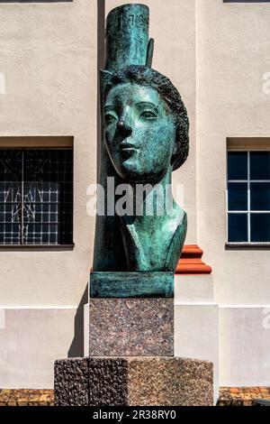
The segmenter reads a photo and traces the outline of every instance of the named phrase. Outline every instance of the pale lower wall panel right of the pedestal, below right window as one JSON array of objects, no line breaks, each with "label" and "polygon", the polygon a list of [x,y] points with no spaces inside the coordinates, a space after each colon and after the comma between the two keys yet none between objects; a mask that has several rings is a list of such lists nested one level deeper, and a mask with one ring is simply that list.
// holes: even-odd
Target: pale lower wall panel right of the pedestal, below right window
[{"label": "pale lower wall panel right of the pedestal, below right window", "polygon": [[270,386],[270,305],[220,308],[220,386]]}]

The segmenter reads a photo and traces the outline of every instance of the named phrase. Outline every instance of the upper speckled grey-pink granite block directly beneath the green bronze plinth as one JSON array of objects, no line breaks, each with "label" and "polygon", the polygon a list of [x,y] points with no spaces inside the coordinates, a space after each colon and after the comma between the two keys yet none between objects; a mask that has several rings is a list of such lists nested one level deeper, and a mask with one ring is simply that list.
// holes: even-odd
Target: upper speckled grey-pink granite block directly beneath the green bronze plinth
[{"label": "upper speckled grey-pink granite block directly beneath the green bronze plinth", "polygon": [[173,356],[174,299],[91,299],[90,356]]}]

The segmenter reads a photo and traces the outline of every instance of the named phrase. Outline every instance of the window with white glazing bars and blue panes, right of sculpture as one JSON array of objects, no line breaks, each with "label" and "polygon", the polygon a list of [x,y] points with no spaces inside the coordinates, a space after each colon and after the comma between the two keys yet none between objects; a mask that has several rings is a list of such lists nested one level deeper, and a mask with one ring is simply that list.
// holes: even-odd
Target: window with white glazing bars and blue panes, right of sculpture
[{"label": "window with white glazing bars and blue panes, right of sculpture", "polygon": [[228,242],[270,244],[270,152],[228,152]]}]

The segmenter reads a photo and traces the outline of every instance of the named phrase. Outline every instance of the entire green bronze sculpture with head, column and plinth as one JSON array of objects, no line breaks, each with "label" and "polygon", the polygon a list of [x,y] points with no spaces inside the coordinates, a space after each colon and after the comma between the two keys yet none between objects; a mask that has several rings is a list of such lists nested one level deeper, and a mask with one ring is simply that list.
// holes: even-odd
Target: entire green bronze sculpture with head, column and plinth
[{"label": "entire green bronze sculpture with head, column and plinth", "polygon": [[[106,41],[98,182],[106,198],[112,177],[118,193],[112,205],[116,213],[96,219],[91,295],[166,296],[173,292],[168,275],[175,272],[187,227],[171,178],[188,155],[188,117],[171,81],[151,69],[146,5],[113,9]],[[128,192],[119,189],[121,184],[130,186]]]}]

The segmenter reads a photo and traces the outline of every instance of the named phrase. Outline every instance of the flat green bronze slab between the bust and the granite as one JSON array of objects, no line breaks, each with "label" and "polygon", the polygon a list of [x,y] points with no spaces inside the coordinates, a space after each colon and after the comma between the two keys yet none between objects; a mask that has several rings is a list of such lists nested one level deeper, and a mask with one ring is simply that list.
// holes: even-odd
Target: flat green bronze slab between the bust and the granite
[{"label": "flat green bronze slab between the bust and the granite", "polygon": [[173,298],[174,272],[93,272],[92,298]]}]

